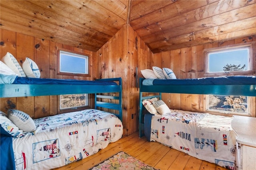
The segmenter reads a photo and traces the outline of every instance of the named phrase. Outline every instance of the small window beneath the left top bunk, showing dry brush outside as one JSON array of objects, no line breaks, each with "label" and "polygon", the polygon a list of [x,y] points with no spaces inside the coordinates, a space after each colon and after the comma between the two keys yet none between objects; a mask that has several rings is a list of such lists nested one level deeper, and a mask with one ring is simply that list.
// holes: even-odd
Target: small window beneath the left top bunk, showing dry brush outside
[{"label": "small window beneath the left top bunk, showing dry brush outside", "polygon": [[89,107],[89,94],[59,95],[59,113],[78,111]]}]

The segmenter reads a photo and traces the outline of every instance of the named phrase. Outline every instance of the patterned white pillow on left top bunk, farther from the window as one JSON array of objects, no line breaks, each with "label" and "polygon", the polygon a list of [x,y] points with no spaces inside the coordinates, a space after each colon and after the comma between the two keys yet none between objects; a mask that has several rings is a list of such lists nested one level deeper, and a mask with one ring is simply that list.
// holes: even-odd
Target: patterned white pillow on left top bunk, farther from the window
[{"label": "patterned white pillow on left top bunk, farther from the window", "polygon": [[1,61],[3,61],[10,69],[12,69],[12,71],[18,74],[18,76],[26,77],[17,59],[11,53],[7,52],[6,55],[2,57]]}]

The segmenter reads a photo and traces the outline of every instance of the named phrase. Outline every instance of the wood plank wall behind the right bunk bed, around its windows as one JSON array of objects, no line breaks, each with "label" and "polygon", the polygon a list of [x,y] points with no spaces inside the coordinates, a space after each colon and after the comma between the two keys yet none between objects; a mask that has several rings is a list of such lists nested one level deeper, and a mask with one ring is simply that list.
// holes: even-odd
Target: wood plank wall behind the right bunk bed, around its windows
[{"label": "wood plank wall behind the right bunk bed, around its windows", "polygon": [[[178,79],[201,78],[204,77],[204,49],[239,44],[244,42],[256,42],[256,35],[230,40],[226,42],[210,43],[206,45],[198,45],[194,47],[187,47],[161,53],[154,53],[153,65],[158,66],[160,68],[168,67],[172,69]],[[253,57],[254,61],[256,61],[255,45],[253,48]],[[253,75],[255,75],[255,73]],[[206,98],[204,95],[163,93],[162,98],[164,102],[168,105],[168,107],[171,109],[181,109],[186,111],[197,112],[206,111]],[[255,97],[252,97],[251,102],[253,107],[251,111],[252,115],[254,116],[256,110],[255,101]]]}]

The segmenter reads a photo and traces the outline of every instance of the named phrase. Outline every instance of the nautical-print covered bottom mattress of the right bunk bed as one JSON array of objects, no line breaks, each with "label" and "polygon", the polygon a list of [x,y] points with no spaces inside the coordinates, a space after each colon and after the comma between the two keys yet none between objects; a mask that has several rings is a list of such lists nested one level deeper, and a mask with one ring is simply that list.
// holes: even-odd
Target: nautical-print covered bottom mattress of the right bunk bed
[{"label": "nautical-print covered bottom mattress of the right bunk bed", "polygon": [[236,169],[236,134],[232,117],[170,110],[164,115],[146,114],[144,133],[157,141],[200,160]]}]

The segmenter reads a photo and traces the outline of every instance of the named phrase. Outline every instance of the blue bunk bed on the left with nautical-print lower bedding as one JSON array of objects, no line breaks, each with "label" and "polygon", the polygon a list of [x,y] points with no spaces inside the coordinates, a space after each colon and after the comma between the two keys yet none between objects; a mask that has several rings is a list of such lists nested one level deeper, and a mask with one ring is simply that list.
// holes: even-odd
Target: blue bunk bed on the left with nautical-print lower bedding
[{"label": "blue bunk bed on the left with nautical-print lower bedding", "polygon": [[[33,119],[36,130],[18,128],[15,136],[10,126],[1,123],[1,169],[57,168],[91,156],[122,137],[121,78],[12,78],[11,84],[0,84],[1,98],[90,93],[95,95],[95,108]],[[2,122],[8,117],[0,112],[0,119]],[[13,125],[9,120],[5,123]]]}]

